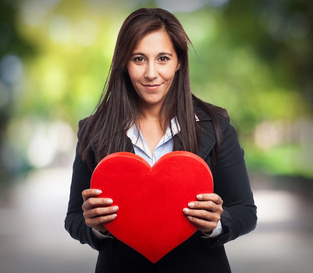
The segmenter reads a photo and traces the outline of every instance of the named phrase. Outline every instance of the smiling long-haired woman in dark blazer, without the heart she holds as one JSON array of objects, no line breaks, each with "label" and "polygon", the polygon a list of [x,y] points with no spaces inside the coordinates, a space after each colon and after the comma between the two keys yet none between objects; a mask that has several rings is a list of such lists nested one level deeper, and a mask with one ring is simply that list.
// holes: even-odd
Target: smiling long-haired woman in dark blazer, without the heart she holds
[{"label": "smiling long-haired woman in dark blazer, without the heart she holds", "polygon": [[[141,8],[131,13],[119,31],[99,103],[79,122],[65,228],[99,251],[96,272],[230,272],[223,244],[255,227],[243,151],[227,112],[191,94],[189,43],[168,11]],[[152,165],[173,150],[205,160],[214,193],[194,196],[181,208],[198,231],[151,263],[103,226],[118,217],[118,204],[109,206],[111,198],[98,198],[101,191],[89,188],[90,177],[112,152],[134,152]]]}]

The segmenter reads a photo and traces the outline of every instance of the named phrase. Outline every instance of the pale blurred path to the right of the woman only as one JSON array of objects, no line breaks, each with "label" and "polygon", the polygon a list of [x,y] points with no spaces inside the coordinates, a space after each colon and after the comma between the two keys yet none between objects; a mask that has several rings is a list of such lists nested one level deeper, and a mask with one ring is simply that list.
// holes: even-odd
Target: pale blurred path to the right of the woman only
[{"label": "pale blurred path to the right of the woman only", "polygon": [[254,190],[258,224],[225,244],[233,273],[311,273],[313,201],[286,190]]}]

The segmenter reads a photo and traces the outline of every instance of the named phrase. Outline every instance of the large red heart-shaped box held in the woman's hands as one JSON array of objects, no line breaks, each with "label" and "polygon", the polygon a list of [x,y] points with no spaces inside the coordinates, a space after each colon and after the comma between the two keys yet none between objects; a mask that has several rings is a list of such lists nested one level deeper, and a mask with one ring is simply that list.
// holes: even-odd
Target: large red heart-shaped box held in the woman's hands
[{"label": "large red heart-shaped box held in the woman's hands", "polygon": [[187,151],[173,151],[150,165],[130,152],[104,157],[91,177],[91,188],[118,205],[107,230],[151,262],[158,261],[198,228],[182,212],[196,194],[212,192],[205,161]]}]

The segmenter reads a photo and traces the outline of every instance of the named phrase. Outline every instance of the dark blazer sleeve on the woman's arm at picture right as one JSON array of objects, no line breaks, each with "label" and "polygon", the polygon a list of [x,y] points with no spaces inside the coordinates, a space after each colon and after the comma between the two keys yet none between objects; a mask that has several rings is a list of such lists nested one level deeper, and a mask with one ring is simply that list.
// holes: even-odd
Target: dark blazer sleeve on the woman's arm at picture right
[{"label": "dark blazer sleeve on the woman's arm at picture right", "polygon": [[256,206],[237,133],[229,121],[222,119],[222,141],[216,169],[214,192],[223,200],[223,233],[209,238],[209,246],[219,246],[250,232],[256,225]]}]

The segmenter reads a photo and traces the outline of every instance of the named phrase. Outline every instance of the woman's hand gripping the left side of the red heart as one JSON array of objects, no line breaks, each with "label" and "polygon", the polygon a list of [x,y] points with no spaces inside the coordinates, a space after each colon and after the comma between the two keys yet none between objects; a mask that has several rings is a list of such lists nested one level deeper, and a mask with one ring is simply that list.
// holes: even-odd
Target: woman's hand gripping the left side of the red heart
[{"label": "woman's hand gripping the left side of the red heart", "polygon": [[81,192],[83,204],[83,217],[86,225],[100,231],[106,232],[106,228],[102,223],[111,221],[116,217],[118,206],[110,206],[113,202],[111,198],[99,198],[97,195],[101,194],[100,189],[88,188]]}]

